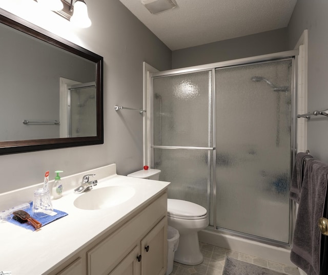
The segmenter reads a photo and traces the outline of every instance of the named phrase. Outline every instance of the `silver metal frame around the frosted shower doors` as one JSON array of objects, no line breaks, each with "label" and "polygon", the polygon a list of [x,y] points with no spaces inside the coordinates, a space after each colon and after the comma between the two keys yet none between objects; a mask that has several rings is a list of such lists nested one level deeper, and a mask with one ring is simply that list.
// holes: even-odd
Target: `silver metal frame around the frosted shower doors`
[{"label": "silver metal frame around the frosted shower doors", "polygon": [[[254,64],[264,64],[267,62],[272,62],[272,61],[278,61],[280,59],[292,59],[292,101],[294,104],[292,104],[292,121],[291,121],[291,126],[292,126],[292,131],[291,131],[291,161],[290,161],[290,167],[292,171],[292,167],[294,165],[294,160],[295,160],[295,155],[296,155],[296,60],[294,57],[299,55],[299,50],[292,50],[292,51],[285,51],[285,52],[279,52],[279,53],[273,53],[273,54],[267,54],[267,55],[260,55],[260,56],[255,56],[255,57],[247,57],[247,58],[241,58],[241,59],[235,59],[235,60],[229,60],[229,61],[222,61],[222,62],[215,62],[211,64],[206,64],[206,65],[200,65],[200,66],[194,66],[194,67],[188,67],[188,68],[181,68],[181,69],[173,69],[173,70],[168,70],[168,71],[162,71],[162,72],[156,72],[156,73],[150,73],[149,74],[149,93],[148,93],[148,100],[150,102],[149,104],[149,115],[153,114],[153,78],[157,77],[164,77],[164,76],[169,76],[169,75],[180,75],[180,74],[187,74],[187,73],[192,73],[192,72],[199,72],[199,71],[209,71],[212,72],[212,77],[209,80],[209,92],[211,94],[211,97],[209,99],[209,147],[193,147],[193,146],[158,146],[154,145],[154,133],[153,133],[153,115],[150,115],[150,120],[149,120],[149,131],[150,131],[150,142],[148,144],[144,144],[144,146],[147,146],[147,150],[149,150],[149,155],[150,155],[150,165],[154,165],[154,149],[189,149],[189,150],[208,150],[209,151],[209,159],[211,160],[208,164],[209,168],[209,175],[208,177],[208,209],[210,209],[210,221],[213,222],[213,226],[209,226],[208,229],[211,230],[219,230],[224,232],[224,234],[229,234],[229,235],[234,235],[234,236],[239,236],[245,239],[252,239],[261,243],[267,243],[267,244],[272,244],[276,245],[279,247],[289,247],[291,242],[292,242],[292,232],[293,232],[293,223],[295,219],[295,205],[290,202],[290,232],[289,232],[289,243],[284,243],[284,242],[279,242],[275,240],[268,240],[265,238],[257,237],[257,236],[250,236],[248,234],[243,234],[240,232],[235,232],[231,231],[228,229],[223,229],[223,228],[217,228],[216,225],[216,177],[215,177],[215,163],[216,163],[216,144],[215,144],[215,131],[211,133],[211,129],[215,129],[215,70],[216,69],[222,69],[222,68],[229,68],[229,67],[244,67],[248,65],[254,65]],[[296,63],[295,63],[296,62]],[[146,126],[145,126],[146,128]],[[210,146],[212,145],[212,146]],[[211,189],[213,190],[212,194],[212,204],[211,204]]]}]

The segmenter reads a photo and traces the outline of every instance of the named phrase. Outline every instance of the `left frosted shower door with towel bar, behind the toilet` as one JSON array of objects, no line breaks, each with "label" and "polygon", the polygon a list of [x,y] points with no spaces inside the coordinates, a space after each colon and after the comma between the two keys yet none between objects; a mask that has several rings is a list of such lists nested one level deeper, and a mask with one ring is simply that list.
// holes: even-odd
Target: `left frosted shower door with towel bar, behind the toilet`
[{"label": "left frosted shower door with towel bar, behind the toilet", "polygon": [[213,155],[212,74],[153,78],[153,166],[170,181],[168,196],[209,210]]}]

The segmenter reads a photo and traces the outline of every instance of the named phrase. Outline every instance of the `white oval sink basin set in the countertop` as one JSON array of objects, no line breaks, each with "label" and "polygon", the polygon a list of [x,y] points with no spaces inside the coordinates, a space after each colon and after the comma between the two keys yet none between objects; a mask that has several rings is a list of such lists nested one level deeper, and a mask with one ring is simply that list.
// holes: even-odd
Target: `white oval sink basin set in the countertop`
[{"label": "white oval sink basin set in the countertop", "polygon": [[106,209],[129,200],[134,194],[135,189],[129,186],[101,187],[79,196],[74,205],[84,210]]}]

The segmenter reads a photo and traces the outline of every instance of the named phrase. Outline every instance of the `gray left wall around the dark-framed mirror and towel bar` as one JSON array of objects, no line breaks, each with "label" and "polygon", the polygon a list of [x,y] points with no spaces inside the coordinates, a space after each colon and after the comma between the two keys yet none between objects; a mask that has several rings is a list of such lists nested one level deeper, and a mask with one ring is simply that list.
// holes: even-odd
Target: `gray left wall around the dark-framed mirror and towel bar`
[{"label": "gray left wall around the dark-framed mirror and towel bar", "polygon": [[118,0],[88,1],[88,10],[92,26],[72,39],[104,57],[105,143],[0,156],[0,193],[43,182],[47,170],[52,180],[58,169],[65,177],[116,163],[117,173],[126,175],[143,165],[142,115],[116,112],[114,105],[142,107],[142,62],[171,69],[171,50]]}]

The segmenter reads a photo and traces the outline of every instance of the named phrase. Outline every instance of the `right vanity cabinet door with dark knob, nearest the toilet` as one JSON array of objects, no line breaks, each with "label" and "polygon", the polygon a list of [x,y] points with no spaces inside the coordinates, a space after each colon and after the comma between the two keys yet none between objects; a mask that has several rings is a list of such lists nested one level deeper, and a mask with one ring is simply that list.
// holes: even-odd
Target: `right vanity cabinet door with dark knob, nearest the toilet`
[{"label": "right vanity cabinet door with dark knob, nearest the toilet", "polygon": [[141,274],[163,275],[167,270],[168,262],[168,240],[167,240],[168,218],[164,217],[149,231],[141,240]]}]

